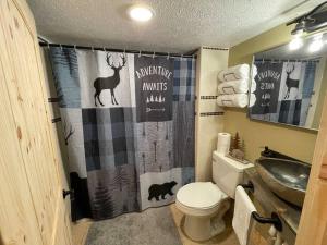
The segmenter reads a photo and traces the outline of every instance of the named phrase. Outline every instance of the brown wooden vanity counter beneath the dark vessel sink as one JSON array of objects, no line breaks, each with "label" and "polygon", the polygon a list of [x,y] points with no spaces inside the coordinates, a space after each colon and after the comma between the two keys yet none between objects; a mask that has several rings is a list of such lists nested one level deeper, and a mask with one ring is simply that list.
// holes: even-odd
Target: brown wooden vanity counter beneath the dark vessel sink
[{"label": "brown wooden vanity counter beneath the dark vessel sink", "polygon": [[265,213],[261,215],[269,217],[271,212],[278,213],[282,222],[281,237],[288,245],[293,245],[300,223],[301,208],[288,204],[276,196],[264,183],[255,168],[245,170],[244,179],[245,183],[251,181],[254,186],[254,191],[251,194],[265,211]]}]

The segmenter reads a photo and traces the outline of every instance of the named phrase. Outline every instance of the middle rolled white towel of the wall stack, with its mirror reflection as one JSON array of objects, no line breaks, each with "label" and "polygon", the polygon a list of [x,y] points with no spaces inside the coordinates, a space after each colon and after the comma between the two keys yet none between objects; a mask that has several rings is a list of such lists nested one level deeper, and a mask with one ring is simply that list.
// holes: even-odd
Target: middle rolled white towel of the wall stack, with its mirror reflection
[{"label": "middle rolled white towel of the wall stack, with its mirror reflection", "polygon": [[[256,90],[256,82],[253,79],[251,83],[251,93]],[[218,85],[218,94],[232,95],[245,94],[249,91],[249,79],[235,79],[222,82]]]}]

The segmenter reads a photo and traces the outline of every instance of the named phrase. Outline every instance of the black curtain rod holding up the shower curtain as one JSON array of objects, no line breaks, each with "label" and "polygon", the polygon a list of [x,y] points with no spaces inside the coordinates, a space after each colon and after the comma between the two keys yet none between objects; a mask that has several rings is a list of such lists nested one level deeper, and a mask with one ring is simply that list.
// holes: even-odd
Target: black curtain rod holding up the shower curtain
[{"label": "black curtain rod holding up the shower curtain", "polygon": [[113,49],[113,48],[99,48],[99,47],[89,47],[89,46],[80,46],[80,45],[61,45],[61,44],[52,44],[52,42],[38,42],[40,47],[61,47],[61,48],[74,48],[74,49],[83,49],[83,50],[101,50],[101,51],[110,51],[110,52],[126,52],[134,54],[148,54],[156,57],[181,57],[181,58],[197,58],[197,54],[183,54],[183,53],[169,53],[169,52],[150,52],[143,50],[131,50],[131,49]]}]

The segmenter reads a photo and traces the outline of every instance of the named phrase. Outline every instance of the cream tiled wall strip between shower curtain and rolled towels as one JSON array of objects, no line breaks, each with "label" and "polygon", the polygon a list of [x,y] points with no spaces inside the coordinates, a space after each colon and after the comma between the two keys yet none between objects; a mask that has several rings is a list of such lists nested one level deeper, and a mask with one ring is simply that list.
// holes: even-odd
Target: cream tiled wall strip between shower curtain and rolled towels
[{"label": "cream tiled wall strip between shower curtain and rolled towels", "polygon": [[227,68],[228,50],[203,47],[196,63],[196,117],[195,117],[195,179],[211,181],[211,156],[217,146],[217,135],[223,130],[223,115],[202,117],[203,112],[223,112],[216,99],[218,72]]}]

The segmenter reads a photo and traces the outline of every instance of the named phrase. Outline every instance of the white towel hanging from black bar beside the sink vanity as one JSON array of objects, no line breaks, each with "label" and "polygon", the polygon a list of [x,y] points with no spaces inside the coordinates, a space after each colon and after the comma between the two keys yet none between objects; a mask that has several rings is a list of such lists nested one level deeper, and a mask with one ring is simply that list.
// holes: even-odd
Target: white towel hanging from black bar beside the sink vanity
[{"label": "white towel hanging from black bar beside the sink vanity", "polygon": [[242,186],[235,191],[235,206],[232,226],[241,245],[247,244],[249,231],[251,229],[251,216],[256,211],[253,203]]}]

